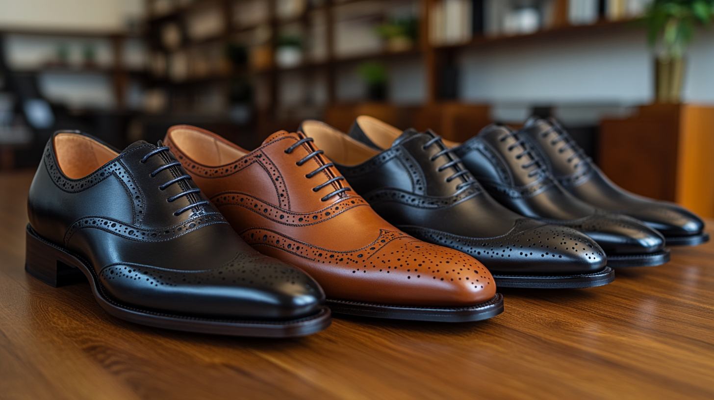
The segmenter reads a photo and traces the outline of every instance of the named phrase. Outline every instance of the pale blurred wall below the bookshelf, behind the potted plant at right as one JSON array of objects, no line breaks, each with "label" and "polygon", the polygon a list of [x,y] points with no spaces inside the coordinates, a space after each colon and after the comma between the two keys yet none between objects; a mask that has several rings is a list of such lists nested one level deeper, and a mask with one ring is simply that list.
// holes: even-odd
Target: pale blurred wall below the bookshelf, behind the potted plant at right
[{"label": "pale blurred wall below the bookshelf, behind the potted plant at right", "polygon": [[[504,41],[463,51],[459,63],[461,99],[494,104],[494,117],[507,121],[521,120],[535,105],[608,113],[654,97],[653,61],[642,29]],[[683,98],[714,104],[713,31],[697,32]]]}]

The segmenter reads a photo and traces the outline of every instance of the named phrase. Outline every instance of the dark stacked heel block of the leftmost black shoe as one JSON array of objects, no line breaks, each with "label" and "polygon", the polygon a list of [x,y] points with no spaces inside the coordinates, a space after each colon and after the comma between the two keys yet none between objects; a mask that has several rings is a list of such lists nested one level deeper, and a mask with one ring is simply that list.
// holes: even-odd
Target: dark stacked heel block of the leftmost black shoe
[{"label": "dark stacked heel block of the leftmost black shoe", "polygon": [[72,265],[74,256],[46,244],[32,228],[26,229],[25,271],[44,283],[60,287],[86,281],[81,269]]}]

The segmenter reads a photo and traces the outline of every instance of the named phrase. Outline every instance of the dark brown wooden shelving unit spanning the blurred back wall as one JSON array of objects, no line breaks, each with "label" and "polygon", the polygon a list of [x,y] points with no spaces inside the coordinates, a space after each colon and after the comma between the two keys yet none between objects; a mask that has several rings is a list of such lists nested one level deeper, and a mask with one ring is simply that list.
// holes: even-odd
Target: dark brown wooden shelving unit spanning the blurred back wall
[{"label": "dark brown wooden shelving unit spanning the blurred back wall", "polygon": [[[151,1],[151,0],[147,0]],[[190,13],[193,10],[201,9],[203,6],[208,4],[217,4],[226,12],[225,26],[226,29],[220,34],[211,38],[202,39],[200,41],[190,41],[183,39],[181,49],[188,49],[195,46],[202,46],[204,44],[216,44],[223,43],[228,44],[237,34],[245,33],[254,29],[254,27],[238,27],[234,26],[232,21],[233,5],[236,1],[241,0],[196,0],[188,6],[183,6],[179,9],[171,11],[169,14],[150,17],[149,19],[149,41],[151,43],[154,51],[165,51],[161,49],[161,44],[157,41],[158,32],[161,29],[161,25],[166,24],[169,21],[178,22],[178,24],[183,24],[186,18],[186,13]],[[256,81],[258,79],[266,79],[268,89],[268,101],[261,107],[256,107],[256,117],[258,125],[256,130],[259,134],[264,135],[266,132],[273,129],[279,129],[281,127],[291,128],[296,121],[281,121],[276,110],[280,108],[278,99],[278,77],[280,74],[286,72],[305,72],[310,73],[313,70],[319,69],[326,74],[328,82],[328,104],[336,105],[338,99],[336,98],[336,69],[338,66],[347,63],[357,63],[360,61],[367,60],[388,60],[401,56],[418,56],[421,58],[421,62],[425,66],[425,76],[426,81],[426,104],[436,105],[443,101],[451,102],[453,99],[443,98],[441,96],[441,76],[443,68],[446,64],[451,62],[459,51],[465,49],[471,49],[479,46],[492,46],[492,45],[503,45],[516,43],[518,41],[547,41],[553,40],[558,37],[563,36],[573,36],[580,34],[594,34],[598,32],[612,31],[614,29],[625,29],[626,22],[624,21],[598,21],[595,24],[583,25],[583,26],[571,26],[568,24],[568,0],[555,0],[555,16],[553,18],[553,24],[550,29],[537,31],[532,34],[521,34],[513,36],[475,36],[470,41],[458,44],[458,45],[448,45],[448,46],[434,46],[429,40],[429,35],[427,27],[430,26],[430,10],[432,6],[436,4],[439,0],[415,0],[419,3],[419,37],[416,44],[412,49],[407,51],[379,51],[373,54],[363,54],[359,56],[350,56],[346,58],[340,58],[334,54],[333,37],[335,36],[335,14],[336,8],[344,6],[346,4],[353,4],[365,0],[349,0],[349,1],[333,1],[324,0],[320,6],[311,7],[310,1],[308,1],[308,6],[306,10],[299,16],[288,21],[280,20],[276,17],[276,0],[266,0],[269,2],[270,18],[266,23],[271,29],[271,54],[275,53],[277,33],[280,31],[281,26],[291,23],[303,24],[303,26],[308,26],[310,24],[310,15],[314,11],[325,11],[327,16],[327,55],[322,61],[304,61],[299,66],[293,66],[291,68],[279,68],[276,66],[274,60],[271,60],[269,66],[263,69],[250,69],[248,67],[242,67],[238,70],[233,71],[231,74],[224,74],[221,76],[209,76],[202,77],[200,79],[186,79],[182,82],[174,82],[169,79],[155,79],[154,83],[157,85],[166,86],[186,86],[190,84],[202,84],[208,81],[229,81],[231,79],[248,79],[250,81]],[[149,3],[147,3],[149,4]],[[306,58],[306,57],[305,57]],[[433,113],[432,113],[433,114]]]}]

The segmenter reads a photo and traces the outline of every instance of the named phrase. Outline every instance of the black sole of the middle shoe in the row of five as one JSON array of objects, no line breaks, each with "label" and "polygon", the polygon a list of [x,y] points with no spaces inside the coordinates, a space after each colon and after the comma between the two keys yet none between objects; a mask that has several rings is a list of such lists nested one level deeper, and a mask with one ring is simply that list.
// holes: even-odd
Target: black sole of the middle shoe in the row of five
[{"label": "black sole of the middle shoe in the row of five", "polygon": [[583,289],[603,286],[615,280],[615,271],[609,266],[590,274],[553,276],[491,274],[498,287],[527,289]]}]

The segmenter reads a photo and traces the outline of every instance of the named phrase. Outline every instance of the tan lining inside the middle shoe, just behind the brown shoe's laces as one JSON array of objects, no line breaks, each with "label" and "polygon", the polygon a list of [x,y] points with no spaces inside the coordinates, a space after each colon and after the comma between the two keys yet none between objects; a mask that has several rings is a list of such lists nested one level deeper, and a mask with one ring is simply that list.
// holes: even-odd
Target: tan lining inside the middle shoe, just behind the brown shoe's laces
[{"label": "tan lining inside the middle shoe, just behind the brown shoe's laces", "polygon": [[313,138],[316,146],[325,151],[327,158],[337,164],[362,164],[380,153],[323,122],[303,121],[302,126],[303,134]]}]

